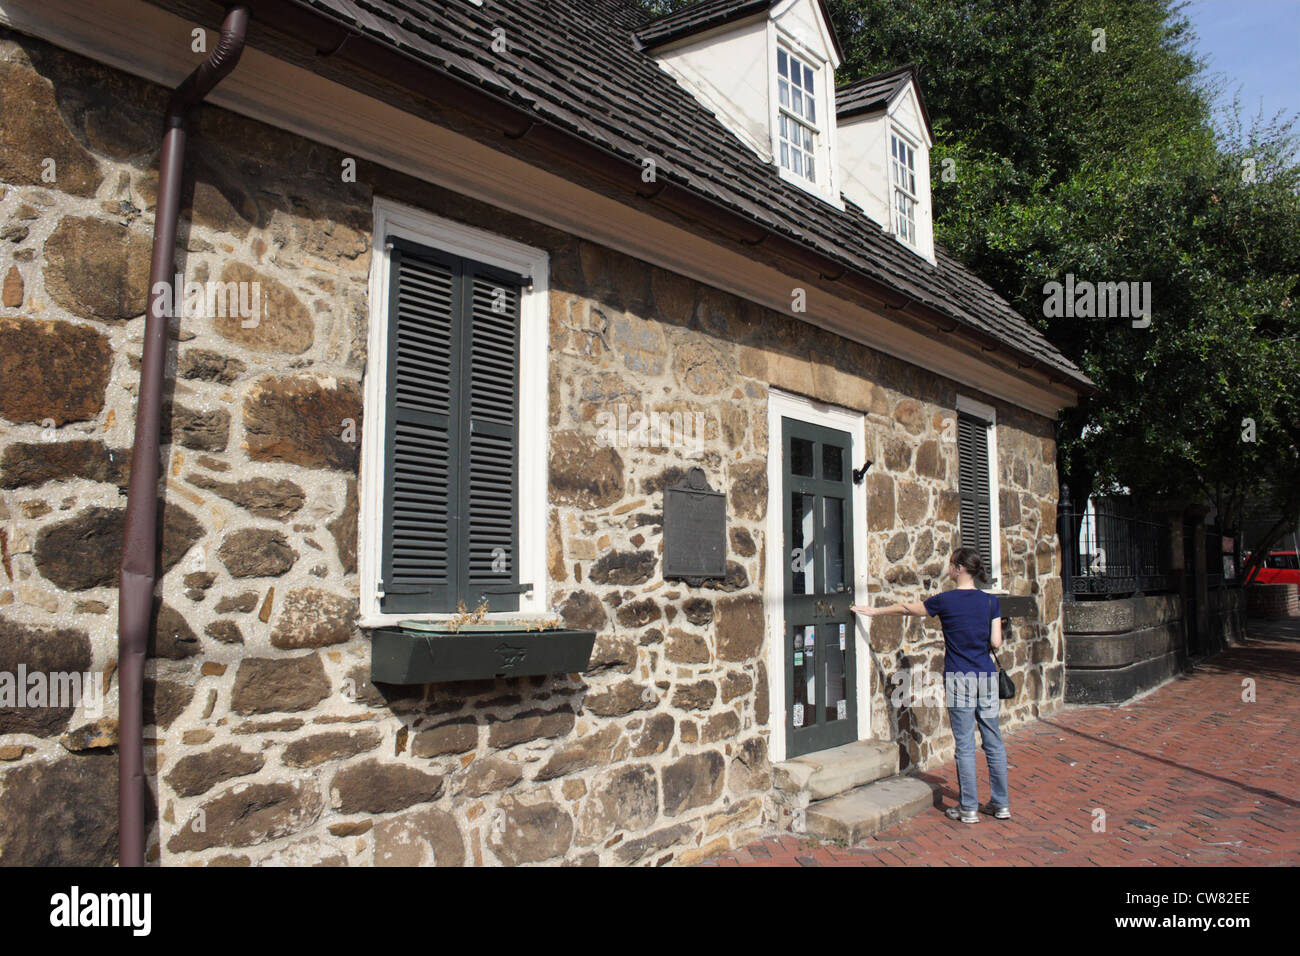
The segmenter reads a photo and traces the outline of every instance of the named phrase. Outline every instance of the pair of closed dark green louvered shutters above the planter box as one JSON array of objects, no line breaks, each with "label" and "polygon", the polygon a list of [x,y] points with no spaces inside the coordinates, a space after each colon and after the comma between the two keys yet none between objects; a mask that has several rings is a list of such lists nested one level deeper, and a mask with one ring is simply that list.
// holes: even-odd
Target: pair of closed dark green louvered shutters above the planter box
[{"label": "pair of closed dark green louvered shutters above the planter box", "polygon": [[385,613],[519,609],[519,319],[526,276],[391,239]]}]

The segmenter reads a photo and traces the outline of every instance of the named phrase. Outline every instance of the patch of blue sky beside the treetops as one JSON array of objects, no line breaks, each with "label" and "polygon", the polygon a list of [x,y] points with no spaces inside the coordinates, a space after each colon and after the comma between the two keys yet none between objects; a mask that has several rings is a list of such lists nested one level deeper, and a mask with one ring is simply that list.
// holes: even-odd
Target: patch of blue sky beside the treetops
[{"label": "patch of blue sky beside the treetops", "polygon": [[1208,70],[1226,81],[1221,100],[1240,92],[1247,126],[1260,111],[1300,114],[1300,0],[1192,0],[1183,10]]}]

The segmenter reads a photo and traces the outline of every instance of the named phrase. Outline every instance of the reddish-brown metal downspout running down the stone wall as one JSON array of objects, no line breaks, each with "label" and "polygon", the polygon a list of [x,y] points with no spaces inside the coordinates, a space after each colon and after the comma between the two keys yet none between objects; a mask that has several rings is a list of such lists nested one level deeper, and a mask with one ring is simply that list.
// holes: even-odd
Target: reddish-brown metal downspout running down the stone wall
[{"label": "reddish-brown metal downspout running down the stone wall", "polygon": [[153,258],[150,307],[144,316],[144,355],[135,406],[135,445],[126,492],[122,568],[117,602],[118,650],[118,865],[144,865],[144,659],[153,618],[159,550],[159,442],[162,424],[162,369],[166,358],[168,303],[172,297],[181,178],[190,111],[239,62],[248,8],[231,7],[212,55],[173,91],[164,120],[153,209]]}]

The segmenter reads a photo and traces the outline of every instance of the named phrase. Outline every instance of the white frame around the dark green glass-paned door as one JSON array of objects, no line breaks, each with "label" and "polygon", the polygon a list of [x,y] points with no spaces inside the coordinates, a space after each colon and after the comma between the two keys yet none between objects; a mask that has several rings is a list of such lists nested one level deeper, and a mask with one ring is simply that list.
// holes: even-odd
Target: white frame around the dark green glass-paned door
[{"label": "white frame around the dark green glass-paned door", "polygon": [[[785,555],[781,516],[781,419],[792,418],[815,425],[848,432],[853,441],[850,462],[866,462],[867,416],[863,412],[818,402],[812,398],[770,388],[767,392],[767,574],[764,581],[764,624],[767,627],[767,693],[772,732],[768,753],[774,762],[785,760]],[[853,466],[859,467],[859,466]],[[853,485],[853,602],[867,602],[867,485]],[[858,706],[858,740],[871,736],[871,654],[867,653],[864,622],[854,615],[853,640],[854,693]]]}]

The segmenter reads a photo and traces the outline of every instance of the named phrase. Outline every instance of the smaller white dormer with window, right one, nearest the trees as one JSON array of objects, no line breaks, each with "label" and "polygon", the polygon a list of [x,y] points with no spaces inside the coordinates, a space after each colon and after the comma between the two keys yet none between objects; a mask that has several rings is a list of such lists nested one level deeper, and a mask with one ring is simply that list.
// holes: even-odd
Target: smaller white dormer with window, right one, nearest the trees
[{"label": "smaller white dormer with window, right one, nearest the trees", "polygon": [[841,109],[837,127],[845,198],[861,206],[900,245],[933,264],[930,150],[935,140],[911,74],[904,74],[876,108],[849,114]]}]

